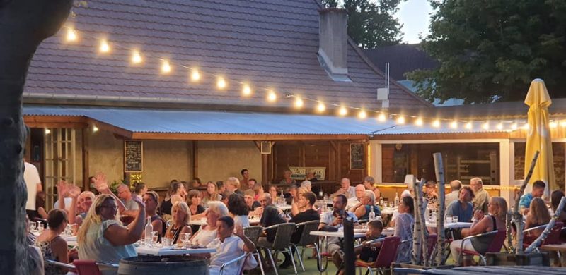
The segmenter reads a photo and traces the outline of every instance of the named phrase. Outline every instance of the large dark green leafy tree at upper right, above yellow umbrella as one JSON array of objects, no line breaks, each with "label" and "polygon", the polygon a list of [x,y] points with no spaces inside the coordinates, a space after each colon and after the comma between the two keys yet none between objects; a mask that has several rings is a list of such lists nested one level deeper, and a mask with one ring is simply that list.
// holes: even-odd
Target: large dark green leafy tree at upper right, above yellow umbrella
[{"label": "large dark green leafy tree at upper right, above yellow umbrella", "polygon": [[422,48],[438,68],[408,73],[432,101],[523,100],[533,78],[566,96],[566,1],[431,1],[436,13]]}]

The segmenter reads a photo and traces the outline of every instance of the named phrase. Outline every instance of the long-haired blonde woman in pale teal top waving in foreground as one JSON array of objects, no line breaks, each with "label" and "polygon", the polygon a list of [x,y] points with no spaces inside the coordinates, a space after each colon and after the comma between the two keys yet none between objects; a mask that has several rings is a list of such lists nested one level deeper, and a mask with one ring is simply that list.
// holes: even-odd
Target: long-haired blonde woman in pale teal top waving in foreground
[{"label": "long-haired blonde woman in pale teal top waving in foreground", "polygon": [[[117,216],[117,204],[112,195],[98,195],[79,228],[79,259],[119,264],[120,259],[137,255],[133,243],[141,238],[144,230],[145,204],[133,197],[139,207],[134,221],[122,226]],[[112,268],[100,267],[103,274],[115,274]]]}]

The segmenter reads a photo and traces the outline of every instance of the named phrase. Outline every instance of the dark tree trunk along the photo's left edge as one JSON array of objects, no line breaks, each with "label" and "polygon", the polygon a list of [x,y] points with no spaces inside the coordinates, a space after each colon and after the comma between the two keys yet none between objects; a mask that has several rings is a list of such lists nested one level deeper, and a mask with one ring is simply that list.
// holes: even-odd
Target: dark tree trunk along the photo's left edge
[{"label": "dark tree trunk along the photo's left edge", "polygon": [[0,274],[29,274],[25,240],[22,93],[31,58],[62,26],[72,0],[0,0]]}]

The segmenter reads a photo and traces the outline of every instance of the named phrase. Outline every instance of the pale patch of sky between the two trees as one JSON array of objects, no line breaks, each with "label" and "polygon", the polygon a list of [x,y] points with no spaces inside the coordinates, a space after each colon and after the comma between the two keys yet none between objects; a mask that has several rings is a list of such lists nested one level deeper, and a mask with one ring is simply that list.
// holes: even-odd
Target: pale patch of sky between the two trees
[{"label": "pale patch of sky between the two trees", "polygon": [[427,35],[429,32],[429,20],[432,7],[428,0],[401,1],[396,16],[399,23],[403,24],[403,42],[409,44],[419,43],[419,35]]}]

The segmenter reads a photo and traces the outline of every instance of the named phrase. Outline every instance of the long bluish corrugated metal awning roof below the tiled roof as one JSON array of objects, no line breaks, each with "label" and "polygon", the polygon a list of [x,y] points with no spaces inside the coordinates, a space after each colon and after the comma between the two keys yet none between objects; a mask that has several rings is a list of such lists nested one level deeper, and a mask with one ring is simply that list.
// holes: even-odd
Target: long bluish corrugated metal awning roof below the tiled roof
[{"label": "long bluish corrugated metal awning roof below the tiled roof", "polygon": [[86,116],[137,133],[369,135],[395,124],[372,119],[255,112],[25,106],[27,116]]}]

